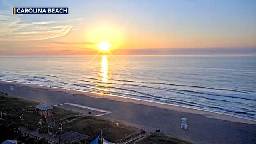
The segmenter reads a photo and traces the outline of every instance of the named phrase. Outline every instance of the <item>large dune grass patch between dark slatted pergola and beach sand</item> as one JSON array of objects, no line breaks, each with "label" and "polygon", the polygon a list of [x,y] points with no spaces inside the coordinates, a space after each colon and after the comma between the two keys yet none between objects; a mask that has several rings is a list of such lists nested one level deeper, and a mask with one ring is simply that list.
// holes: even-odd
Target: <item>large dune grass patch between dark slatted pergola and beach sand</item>
[{"label": "large dune grass patch between dark slatted pergola and beach sand", "polygon": [[[58,131],[58,128],[59,125],[54,126],[54,131]],[[76,118],[73,121],[62,124],[62,128],[64,132],[71,130],[89,135],[88,141],[94,140],[102,130],[104,138],[110,142],[117,142],[130,134],[140,131],[136,127],[96,116]]]}]

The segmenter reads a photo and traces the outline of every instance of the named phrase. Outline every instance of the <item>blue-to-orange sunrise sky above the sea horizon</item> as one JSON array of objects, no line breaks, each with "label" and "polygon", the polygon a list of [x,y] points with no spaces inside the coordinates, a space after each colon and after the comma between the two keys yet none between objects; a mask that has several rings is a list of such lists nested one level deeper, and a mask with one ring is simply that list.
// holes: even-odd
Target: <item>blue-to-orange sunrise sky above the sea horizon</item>
[{"label": "blue-to-orange sunrise sky above the sea horizon", "polygon": [[[69,7],[14,15],[12,7]],[[0,55],[256,54],[256,0],[0,0]]]}]

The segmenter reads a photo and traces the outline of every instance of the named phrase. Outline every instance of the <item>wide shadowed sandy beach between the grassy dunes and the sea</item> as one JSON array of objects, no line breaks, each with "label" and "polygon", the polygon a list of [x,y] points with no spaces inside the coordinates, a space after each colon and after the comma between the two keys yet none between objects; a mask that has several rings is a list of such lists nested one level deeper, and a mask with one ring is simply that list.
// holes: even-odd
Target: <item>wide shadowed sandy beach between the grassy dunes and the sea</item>
[{"label": "wide shadowed sandy beach between the grassy dunes and the sea", "polygon": [[[9,91],[10,86],[14,86],[14,92]],[[147,132],[161,129],[161,132],[166,134],[200,144],[256,143],[256,121],[215,112],[133,98],[127,99],[121,96],[32,84],[19,83],[17,85],[14,82],[4,81],[0,81],[0,92],[38,102],[49,102],[53,105],[73,103],[111,111],[112,113],[102,115],[102,117],[131,124]],[[181,118],[188,118],[187,130],[180,128]]]}]

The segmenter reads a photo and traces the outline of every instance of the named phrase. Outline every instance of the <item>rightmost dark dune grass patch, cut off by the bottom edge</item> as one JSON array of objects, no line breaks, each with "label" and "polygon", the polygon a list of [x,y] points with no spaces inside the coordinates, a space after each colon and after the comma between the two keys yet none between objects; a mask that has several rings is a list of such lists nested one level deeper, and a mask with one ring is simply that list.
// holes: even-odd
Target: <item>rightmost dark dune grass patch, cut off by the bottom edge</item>
[{"label": "rightmost dark dune grass patch, cut off by the bottom edge", "polygon": [[136,144],[196,144],[188,140],[169,136],[163,133],[152,133],[136,142]]}]

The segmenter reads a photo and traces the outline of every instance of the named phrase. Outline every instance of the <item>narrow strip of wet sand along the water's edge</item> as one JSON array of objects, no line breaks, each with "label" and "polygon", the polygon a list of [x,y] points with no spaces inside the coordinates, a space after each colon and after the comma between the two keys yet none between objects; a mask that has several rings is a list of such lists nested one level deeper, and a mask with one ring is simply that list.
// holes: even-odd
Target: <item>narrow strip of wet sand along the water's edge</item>
[{"label": "narrow strip of wet sand along the water's edge", "polygon": [[[114,100],[114,101],[119,101],[119,102],[130,102],[134,104],[142,104],[142,105],[147,105],[147,106],[156,106],[158,108],[162,109],[167,109],[167,110],[174,110],[177,112],[186,112],[186,113],[191,113],[191,114],[199,114],[202,116],[205,116],[207,118],[214,118],[218,120],[226,120],[230,122],[239,122],[239,123],[245,123],[245,124],[254,124],[256,125],[256,120],[249,119],[249,118],[244,118],[244,117],[239,117],[239,116],[233,116],[231,114],[223,114],[220,112],[212,112],[209,110],[201,110],[197,108],[190,108],[186,106],[179,106],[175,104],[168,104],[168,103],[163,103],[163,102],[154,102],[150,100],[142,100],[138,98],[129,98],[127,99],[124,96],[117,96],[113,94],[104,94],[104,93],[96,93],[96,92],[88,92],[84,90],[77,90],[77,89],[72,89],[69,90],[68,88],[61,88],[59,89],[58,87],[52,86],[44,86],[44,85],[39,85],[39,84],[28,84],[28,83],[21,83],[21,82],[13,82],[13,81],[8,81],[8,80],[0,80],[0,83],[2,84],[13,84],[14,86],[27,86],[30,88],[40,88],[40,89],[45,89],[48,91],[58,91],[58,92],[65,92],[68,94],[80,94],[80,95],[85,95],[89,97],[94,97],[94,98],[105,98],[109,100]],[[18,96],[19,97],[19,96]]]}]

